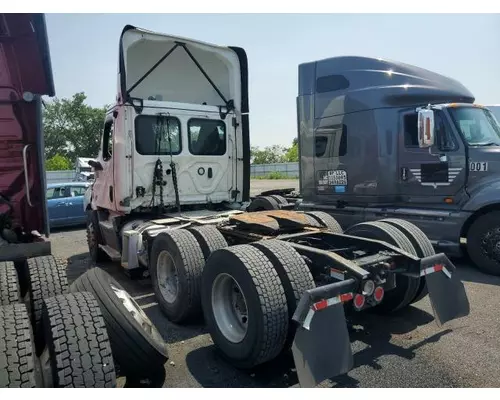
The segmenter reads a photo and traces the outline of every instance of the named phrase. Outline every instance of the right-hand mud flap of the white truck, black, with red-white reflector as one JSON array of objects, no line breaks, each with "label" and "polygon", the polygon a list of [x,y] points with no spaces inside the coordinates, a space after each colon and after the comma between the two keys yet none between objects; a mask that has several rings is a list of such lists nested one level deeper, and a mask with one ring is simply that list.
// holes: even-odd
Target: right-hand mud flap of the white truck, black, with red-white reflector
[{"label": "right-hand mud flap of the white truck, black, with red-white reflector", "polygon": [[439,326],[469,315],[465,287],[455,273],[456,267],[444,254],[421,260],[420,275],[425,276],[434,317]]}]

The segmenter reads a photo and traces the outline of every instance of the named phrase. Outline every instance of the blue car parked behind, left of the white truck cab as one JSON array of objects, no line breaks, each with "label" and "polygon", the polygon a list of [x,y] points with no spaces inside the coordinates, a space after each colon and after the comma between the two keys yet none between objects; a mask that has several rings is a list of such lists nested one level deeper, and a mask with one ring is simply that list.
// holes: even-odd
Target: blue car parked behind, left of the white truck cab
[{"label": "blue car parked behind, left of the white truck cab", "polygon": [[88,182],[50,183],[47,185],[47,207],[51,228],[83,225],[86,214],[83,208]]}]

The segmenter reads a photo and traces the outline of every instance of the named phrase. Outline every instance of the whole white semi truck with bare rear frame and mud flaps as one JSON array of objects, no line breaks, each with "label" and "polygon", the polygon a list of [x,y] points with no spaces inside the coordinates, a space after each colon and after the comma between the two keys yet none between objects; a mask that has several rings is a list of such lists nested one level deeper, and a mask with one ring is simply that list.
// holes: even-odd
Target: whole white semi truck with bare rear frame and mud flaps
[{"label": "whole white semi truck with bare rear frame and mud flaps", "polygon": [[119,60],[89,162],[89,251],[149,276],[170,321],[203,314],[240,368],[291,350],[300,384],[314,386],[352,367],[344,307],[392,312],[429,294],[438,323],[468,314],[453,264],[413,225],[343,233],[325,213],[245,212],[244,50],[126,27]]}]

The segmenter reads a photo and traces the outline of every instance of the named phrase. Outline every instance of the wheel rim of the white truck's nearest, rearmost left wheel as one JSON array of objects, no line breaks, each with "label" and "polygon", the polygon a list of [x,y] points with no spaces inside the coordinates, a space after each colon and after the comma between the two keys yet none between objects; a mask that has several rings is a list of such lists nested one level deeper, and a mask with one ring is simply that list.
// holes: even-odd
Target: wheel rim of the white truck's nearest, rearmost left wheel
[{"label": "wheel rim of the white truck's nearest, rearmost left wheel", "polygon": [[248,307],[240,286],[229,274],[218,275],[212,284],[212,310],[224,337],[240,343],[248,330]]}]

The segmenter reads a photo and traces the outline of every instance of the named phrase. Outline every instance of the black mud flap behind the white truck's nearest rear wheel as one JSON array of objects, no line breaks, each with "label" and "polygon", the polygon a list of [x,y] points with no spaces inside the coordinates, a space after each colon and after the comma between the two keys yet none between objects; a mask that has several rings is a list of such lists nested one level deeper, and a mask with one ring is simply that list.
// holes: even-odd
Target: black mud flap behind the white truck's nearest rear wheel
[{"label": "black mud flap behind the white truck's nearest rear wheel", "polygon": [[[342,282],[312,289],[297,306],[293,319],[299,326],[292,353],[301,387],[314,387],[352,369],[351,342],[342,304],[352,299],[349,286],[350,282]],[[316,301],[320,294],[327,296]]]}]

